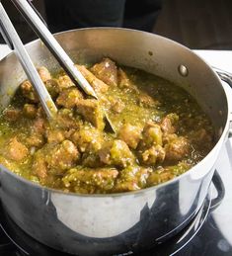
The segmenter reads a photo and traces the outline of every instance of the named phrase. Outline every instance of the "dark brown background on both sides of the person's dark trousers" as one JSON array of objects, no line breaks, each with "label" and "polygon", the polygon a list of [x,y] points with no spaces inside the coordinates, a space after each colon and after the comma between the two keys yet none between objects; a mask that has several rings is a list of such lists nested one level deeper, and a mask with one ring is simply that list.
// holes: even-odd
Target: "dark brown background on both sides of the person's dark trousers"
[{"label": "dark brown background on both sides of the person's dark trousers", "polygon": [[[33,3],[45,18],[43,1]],[[2,3],[24,43],[36,39],[11,1]],[[232,49],[232,0],[163,0],[153,32],[194,49]]]}]

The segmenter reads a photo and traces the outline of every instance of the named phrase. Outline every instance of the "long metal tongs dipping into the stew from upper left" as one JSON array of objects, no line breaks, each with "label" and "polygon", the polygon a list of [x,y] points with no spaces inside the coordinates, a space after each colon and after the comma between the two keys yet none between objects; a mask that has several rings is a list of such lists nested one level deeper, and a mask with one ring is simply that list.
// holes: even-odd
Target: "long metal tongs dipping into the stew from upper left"
[{"label": "long metal tongs dipping into the stew from upper left", "polygon": [[[81,74],[81,72],[75,67],[74,62],[67,55],[61,45],[54,39],[51,33],[48,31],[46,26],[42,23],[38,14],[34,10],[33,6],[28,3],[27,0],[11,0],[16,8],[24,16],[25,20],[37,33],[40,40],[47,46],[51,51],[54,57],[57,59],[59,64],[63,67],[66,73],[69,75],[74,84],[81,88],[82,91],[89,96],[98,99],[94,89]],[[43,85],[39,73],[37,72],[36,67],[33,64],[24,44],[20,40],[17,32],[14,29],[4,7],[0,2],[0,30],[6,41],[6,43],[12,48],[15,49],[17,56],[19,57],[21,64],[29,78],[32,82],[34,89],[39,95],[39,100],[42,105],[43,110],[46,113],[48,119],[53,119],[57,109],[47,92],[45,86]],[[113,125],[111,124],[108,116],[105,113],[106,128],[109,131],[115,131]]]}]

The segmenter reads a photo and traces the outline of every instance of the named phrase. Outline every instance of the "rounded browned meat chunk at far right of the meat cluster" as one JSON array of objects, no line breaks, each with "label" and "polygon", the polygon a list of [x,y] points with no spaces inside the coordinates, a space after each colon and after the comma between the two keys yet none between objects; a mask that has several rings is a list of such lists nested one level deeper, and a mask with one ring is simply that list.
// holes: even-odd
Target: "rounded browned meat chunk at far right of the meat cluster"
[{"label": "rounded browned meat chunk at far right of the meat cluster", "polygon": [[189,140],[184,136],[176,136],[165,145],[165,160],[179,161],[189,153],[189,150]]}]

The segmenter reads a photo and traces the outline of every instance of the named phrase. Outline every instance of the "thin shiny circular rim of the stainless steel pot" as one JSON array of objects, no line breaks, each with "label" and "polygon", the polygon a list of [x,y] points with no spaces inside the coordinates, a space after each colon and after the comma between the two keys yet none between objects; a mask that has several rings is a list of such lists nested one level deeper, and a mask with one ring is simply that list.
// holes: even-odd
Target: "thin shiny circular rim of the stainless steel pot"
[{"label": "thin shiny circular rim of the stainless steel pot", "polygon": [[[60,194],[60,195],[65,195],[65,196],[72,196],[72,197],[83,197],[83,198],[116,198],[116,197],[121,197],[121,196],[133,196],[133,195],[138,195],[138,194],[143,194],[152,190],[158,190],[160,188],[165,187],[166,185],[170,185],[172,183],[177,182],[178,180],[182,179],[183,177],[187,176],[187,175],[191,175],[196,167],[199,168],[200,165],[204,165],[204,162],[207,160],[207,158],[210,155],[213,155],[217,150],[220,144],[223,143],[223,141],[225,140],[226,135],[229,132],[229,124],[231,122],[230,116],[231,113],[229,111],[229,104],[228,104],[228,97],[227,94],[225,92],[225,89],[221,83],[220,78],[218,77],[218,75],[215,73],[215,71],[210,67],[210,65],[200,56],[198,56],[198,54],[196,54],[192,49],[190,49],[189,47],[181,44],[181,43],[177,43],[173,40],[170,40],[168,38],[156,35],[156,34],[152,34],[152,33],[148,33],[148,32],[143,32],[143,31],[137,31],[137,30],[132,30],[132,29],[126,29],[126,28],[115,28],[115,27],[93,27],[93,28],[83,28],[83,29],[73,29],[73,30],[68,30],[68,31],[62,31],[59,33],[55,33],[53,34],[55,37],[58,37],[59,35],[64,35],[64,34],[69,34],[69,33],[75,33],[76,31],[124,31],[124,32],[132,32],[132,33],[139,33],[141,35],[148,35],[150,37],[156,37],[158,39],[162,39],[162,40],[166,40],[169,41],[171,43],[175,43],[178,44],[181,47],[186,48],[188,51],[191,51],[192,54],[194,56],[196,56],[200,61],[204,62],[206,66],[209,67],[209,69],[212,72],[212,75],[214,75],[214,79],[218,80],[222,86],[222,89],[224,91],[225,94],[225,98],[226,98],[226,107],[227,107],[227,118],[226,118],[226,123],[223,127],[223,131],[220,135],[220,138],[217,140],[217,142],[215,143],[215,145],[213,146],[213,148],[208,152],[208,154],[206,156],[204,156],[204,158],[202,160],[200,160],[197,164],[195,164],[190,170],[188,170],[187,172],[181,174],[180,176],[177,176],[175,178],[173,178],[172,180],[163,182],[161,184],[158,185],[154,185],[152,187],[148,187],[148,188],[144,188],[144,189],[140,189],[140,190],[136,190],[136,191],[130,191],[130,192],[120,192],[120,193],[112,193],[112,194],[80,194],[80,193],[74,193],[74,192],[64,192],[58,189],[52,189],[52,188],[47,188],[44,186],[39,185],[39,183],[30,181],[26,178],[23,178],[19,175],[17,175],[16,173],[10,171],[8,168],[4,167],[3,165],[0,164],[0,175],[1,175],[1,171],[5,171],[7,174],[10,174],[11,176],[13,176],[16,179],[19,179],[21,182],[27,184],[28,186],[32,186],[32,187],[36,187],[40,190],[42,190],[43,192],[47,192],[47,193],[56,193],[56,194]],[[35,43],[39,43],[40,40],[37,39],[35,41],[32,41],[30,43],[26,43],[26,48],[29,47],[31,44],[35,44]],[[0,62],[4,61],[5,59],[7,59],[8,57],[10,57],[11,55],[15,54],[14,51],[11,51],[9,54],[7,54],[4,58],[2,58],[0,60]],[[216,160],[215,160],[216,162]],[[1,183],[1,176],[0,176],[0,183]]]}]

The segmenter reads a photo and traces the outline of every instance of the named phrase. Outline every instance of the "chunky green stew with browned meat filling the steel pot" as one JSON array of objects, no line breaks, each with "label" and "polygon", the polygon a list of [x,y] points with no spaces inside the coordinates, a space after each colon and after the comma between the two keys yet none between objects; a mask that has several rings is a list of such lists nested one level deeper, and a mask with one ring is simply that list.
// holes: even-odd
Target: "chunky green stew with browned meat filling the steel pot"
[{"label": "chunky green stew with browned meat filling the steel pot", "polygon": [[[0,117],[0,163],[42,186],[83,194],[128,192],[188,171],[213,146],[213,128],[181,87],[104,58],[78,65],[100,100],[60,71],[39,75],[58,113],[48,123],[32,84]],[[105,128],[104,113],[116,128]]]}]

